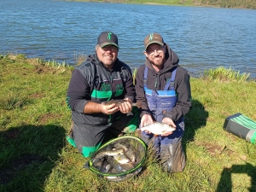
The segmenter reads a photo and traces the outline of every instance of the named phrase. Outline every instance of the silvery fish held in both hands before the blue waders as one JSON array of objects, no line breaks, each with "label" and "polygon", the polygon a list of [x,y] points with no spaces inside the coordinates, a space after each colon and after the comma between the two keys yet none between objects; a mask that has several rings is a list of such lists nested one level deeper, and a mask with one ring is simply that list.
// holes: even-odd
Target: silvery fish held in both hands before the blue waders
[{"label": "silvery fish held in both hands before the blue waders", "polygon": [[154,122],[153,124],[149,124],[140,128],[141,131],[150,131],[154,135],[162,135],[169,131],[175,131],[176,128],[168,125],[166,123]]}]

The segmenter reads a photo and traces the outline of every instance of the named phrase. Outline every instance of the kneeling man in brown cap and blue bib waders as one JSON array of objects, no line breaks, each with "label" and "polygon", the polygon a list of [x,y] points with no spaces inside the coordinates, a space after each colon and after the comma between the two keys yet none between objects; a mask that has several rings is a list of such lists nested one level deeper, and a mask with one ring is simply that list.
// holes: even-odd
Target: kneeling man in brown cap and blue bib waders
[{"label": "kneeling man in brown cap and blue bib waders", "polygon": [[154,121],[175,127],[175,131],[154,136],[143,131],[145,143],[152,143],[156,157],[167,172],[183,172],[185,155],[182,148],[184,115],[191,108],[191,90],[187,70],[178,65],[177,54],[159,33],[144,39],[145,64],[138,68],[136,99],[140,102],[141,127]]}]

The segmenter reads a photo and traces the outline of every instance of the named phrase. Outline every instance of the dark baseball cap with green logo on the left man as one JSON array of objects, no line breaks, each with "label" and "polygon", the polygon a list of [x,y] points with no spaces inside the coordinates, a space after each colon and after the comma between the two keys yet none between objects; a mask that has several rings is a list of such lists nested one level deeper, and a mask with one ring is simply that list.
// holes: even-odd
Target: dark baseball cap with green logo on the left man
[{"label": "dark baseball cap with green logo on the left man", "polygon": [[119,49],[119,39],[113,32],[102,32],[98,37],[97,44],[100,47],[112,44]]}]

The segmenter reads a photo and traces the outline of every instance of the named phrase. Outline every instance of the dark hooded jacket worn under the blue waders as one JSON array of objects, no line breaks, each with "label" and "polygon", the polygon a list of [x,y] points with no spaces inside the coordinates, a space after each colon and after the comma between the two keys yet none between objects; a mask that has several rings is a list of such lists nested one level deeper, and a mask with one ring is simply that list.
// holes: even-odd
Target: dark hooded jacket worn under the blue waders
[{"label": "dark hooded jacket worn under the blue waders", "polygon": [[[147,76],[147,88],[149,90],[164,90],[166,86],[166,81],[171,79],[173,67],[177,67],[176,78],[174,81],[174,89],[177,92],[177,103],[172,111],[166,113],[163,118],[171,118],[174,122],[183,117],[186,113],[189,112],[191,108],[191,89],[189,83],[189,74],[186,69],[178,65],[177,54],[172,51],[168,44],[166,45],[166,62],[164,63],[163,68],[157,73],[152,64],[146,58],[145,64],[140,66],[137,69],[136,77],[136,99],[137,102],[142,105],[140,109],[140,117],[143,117],[143,114],[151,114],[148,108],[148,102],[143,90],[143,75],[145,67],[148,67],[148,76]],[[152,115],[152,114],[151,114]]]}]

